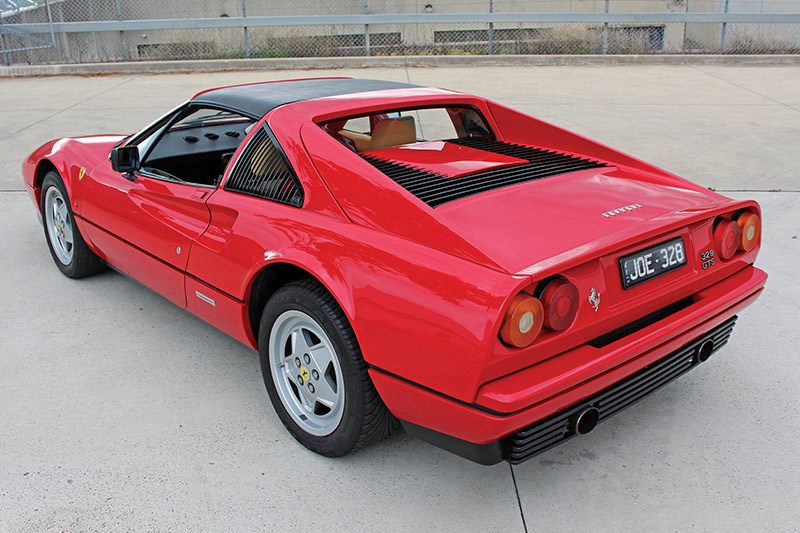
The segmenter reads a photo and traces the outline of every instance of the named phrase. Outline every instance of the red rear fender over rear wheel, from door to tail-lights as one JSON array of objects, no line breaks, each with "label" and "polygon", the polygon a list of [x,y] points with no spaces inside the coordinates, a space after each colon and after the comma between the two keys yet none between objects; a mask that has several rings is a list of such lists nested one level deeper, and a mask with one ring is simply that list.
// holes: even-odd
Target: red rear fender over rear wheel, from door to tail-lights
[{"label": "red rear fender over rear wheel, from door to tail-lights", "polygon": [[[206,205],[211,225],[192,246],[189,275],[243,308],[264,267],[297,266],[339,303],[368,363],[458,398],[474,396],[503,310],[530,284],[528,276],[260,198],[218,190]],[[212,316],[220,306],[207,311],[212,324],[225,321]]]}]

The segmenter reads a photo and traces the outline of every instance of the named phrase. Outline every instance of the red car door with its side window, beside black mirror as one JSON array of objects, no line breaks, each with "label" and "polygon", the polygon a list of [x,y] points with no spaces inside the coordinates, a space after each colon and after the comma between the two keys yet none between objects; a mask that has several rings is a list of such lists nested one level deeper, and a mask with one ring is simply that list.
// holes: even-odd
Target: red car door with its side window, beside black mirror
[{"label": "red car door with its side window, beside black mirror", "polygon": [[[88,177],[83,196],[89,238],[106,261],[182,307],[189,252],[210,222],[205,202],[216,189],[225,157],[252,123],[240,117],[191,126],[198,113],[202,116],[199,109],[179,110],[143,136],[140,169],[120,173],[102,163]],[[224,135],[221,143],[217,130]],[[197,164],[206,159],[219,163],[213,168]]]}]

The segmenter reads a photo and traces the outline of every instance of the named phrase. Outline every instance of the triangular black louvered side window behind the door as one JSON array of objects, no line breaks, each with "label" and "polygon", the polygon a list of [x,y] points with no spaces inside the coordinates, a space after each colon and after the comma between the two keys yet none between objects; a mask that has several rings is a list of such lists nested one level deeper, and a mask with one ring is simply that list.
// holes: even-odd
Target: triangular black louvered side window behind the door
[{"label": "triangular black louvered side window behind the door", "polygon": [[242,151],[225,184],[225,190],[295,207],[303,204],[300,183],[283,152],[265,128],[257,131]]}]

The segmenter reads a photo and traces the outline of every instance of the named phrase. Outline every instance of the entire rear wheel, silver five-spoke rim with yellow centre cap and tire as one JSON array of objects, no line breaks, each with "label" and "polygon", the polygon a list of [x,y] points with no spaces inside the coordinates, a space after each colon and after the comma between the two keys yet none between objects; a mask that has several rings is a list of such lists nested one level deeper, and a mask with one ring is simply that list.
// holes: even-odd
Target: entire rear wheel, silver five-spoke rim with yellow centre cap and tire
[{"label": "entire rear wheel, silver five-spoke rim with yellow centre cap and tire", "polygon": [[342,456],[398,429],[347,318],[316,281],[290,283],[270,298],[261,316],[259,354],[272,405],[306,448]]}]

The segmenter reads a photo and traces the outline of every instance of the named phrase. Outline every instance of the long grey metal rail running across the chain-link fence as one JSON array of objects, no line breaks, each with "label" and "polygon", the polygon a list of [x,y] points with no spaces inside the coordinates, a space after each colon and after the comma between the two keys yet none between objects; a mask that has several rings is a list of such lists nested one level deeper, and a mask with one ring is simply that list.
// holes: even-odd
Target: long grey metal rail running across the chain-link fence
[{"label": "long grey metal rail running across the chain-link fence", "polygon": [[[121,21],[53,22],[55,33],[256,28],[282,26],[364,26],[396,24],[500,24],[500,23],[594,23],[594,24],[795,24],[800,13],[397,13],[380,15],[309,15],[276,17],[220,17]],[[0,26],[0,32],[11,25]],[[50,24],[14,24],[26,33],[50,33]]]}]

